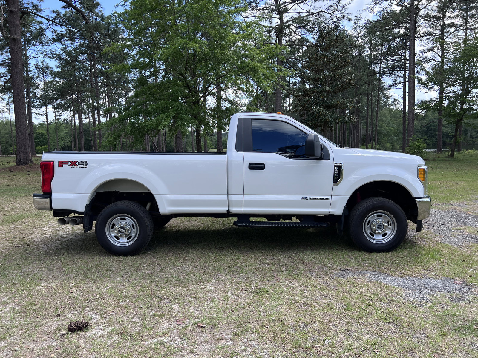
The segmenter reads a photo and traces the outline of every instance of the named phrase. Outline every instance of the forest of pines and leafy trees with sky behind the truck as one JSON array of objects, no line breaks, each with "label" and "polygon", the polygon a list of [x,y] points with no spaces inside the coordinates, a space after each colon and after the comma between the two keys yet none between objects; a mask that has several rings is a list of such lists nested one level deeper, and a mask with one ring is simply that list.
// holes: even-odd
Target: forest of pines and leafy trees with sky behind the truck
[{"label": "forest of pines and leafy trees with sky behind the truck", "polygon": [[17,165],[49,150],[222,151],[240,111],[348,147],[478,143],[476,0],[358,14],[340,0],[125,0],[108,15],[57,2],[0,5],[0,154]]}]

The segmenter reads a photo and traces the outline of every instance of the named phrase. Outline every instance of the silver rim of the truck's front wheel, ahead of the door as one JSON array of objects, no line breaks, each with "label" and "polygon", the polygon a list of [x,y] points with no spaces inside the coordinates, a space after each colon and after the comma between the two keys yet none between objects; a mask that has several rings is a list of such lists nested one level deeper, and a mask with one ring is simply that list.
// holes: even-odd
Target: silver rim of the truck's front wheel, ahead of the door
[{"label": "silver rim of the truck's front wheel, ahead of the door", "polygon": [[397,221],[390,212],[374,211],[363,221],[363,233],[373,243],[385,243],[397,232]]}]

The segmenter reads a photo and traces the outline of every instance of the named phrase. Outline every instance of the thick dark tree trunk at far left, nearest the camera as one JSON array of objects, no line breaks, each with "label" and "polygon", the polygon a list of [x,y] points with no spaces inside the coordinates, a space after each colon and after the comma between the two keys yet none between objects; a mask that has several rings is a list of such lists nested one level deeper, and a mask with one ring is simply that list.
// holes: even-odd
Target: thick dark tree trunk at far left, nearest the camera
[{"label": "thick dark tree trunk at far left, nearest the camera", "polygon": [[25,85],[22,61],[22,27],[20,24],[20,4],[18,0],[6,0],[8,8],[9,51],[13,110],[15,112],[15,134],[17,137],[16,165],[33,162],[32,147],[28,136],[28,119],[25,104]]}]

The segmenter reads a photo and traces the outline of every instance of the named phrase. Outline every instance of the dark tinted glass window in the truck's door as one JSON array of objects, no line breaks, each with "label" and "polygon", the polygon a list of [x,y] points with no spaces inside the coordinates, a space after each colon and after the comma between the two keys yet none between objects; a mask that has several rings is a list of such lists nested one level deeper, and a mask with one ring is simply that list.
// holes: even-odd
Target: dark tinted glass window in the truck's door
[{"label": "dark tinted glass window in the truck's door", "polygon": [[289,158],[305,153],[307,134],[281,121],[252,119],[252,151],[274,152]]}]

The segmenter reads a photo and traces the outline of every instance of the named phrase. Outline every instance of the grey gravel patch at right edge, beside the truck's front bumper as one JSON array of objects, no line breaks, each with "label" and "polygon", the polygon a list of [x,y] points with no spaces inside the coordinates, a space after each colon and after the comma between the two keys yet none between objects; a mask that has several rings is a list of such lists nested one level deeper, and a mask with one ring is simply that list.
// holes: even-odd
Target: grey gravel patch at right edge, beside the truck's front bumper
[{"label": "grey gravel patch at right edge, beside the truck's front bumper", "polygon": [[[462,207],[459,204],[454,206]],[[466,210],[466,206],[463,209]],[[476,228],[477,230],[473,230],[476,233],[460,230],[459,228],[463,226]],[[440,242],[453,246],[460,246],[465,243],[478,244],[478,215],[463,210],[432,209],[430,217],[424,220],[424,231],[432,231],[438,236]]]}]

